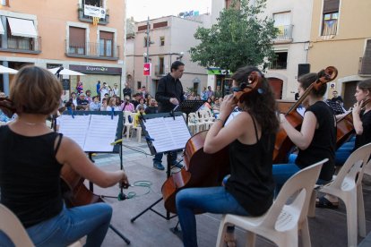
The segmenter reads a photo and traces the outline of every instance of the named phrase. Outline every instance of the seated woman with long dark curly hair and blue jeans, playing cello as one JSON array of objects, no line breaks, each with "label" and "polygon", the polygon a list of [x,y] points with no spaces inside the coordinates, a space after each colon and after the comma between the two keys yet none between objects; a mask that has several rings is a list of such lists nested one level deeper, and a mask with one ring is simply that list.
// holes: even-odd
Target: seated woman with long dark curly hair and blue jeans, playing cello
[{"label": "seated woman with long dark curly hair and blue jeans, playing cello", "polygon": [[[272,89],[257,68],[246,66],[233,74],[233,90],[237,95],[249,87],[252,73],[260,78],[260,86],[238,100],[233,95],[224,98],[219,118],[207,133],[203,147],[204,152],[215,153],[229,145],[231,175],[225,186],[189,188],[177,193],[185,246],[197,246],[194,210],[261,216],[272,205],[272,151],[279,127]],[[223,126],[235,106],[242,109],[241,113]]]}]

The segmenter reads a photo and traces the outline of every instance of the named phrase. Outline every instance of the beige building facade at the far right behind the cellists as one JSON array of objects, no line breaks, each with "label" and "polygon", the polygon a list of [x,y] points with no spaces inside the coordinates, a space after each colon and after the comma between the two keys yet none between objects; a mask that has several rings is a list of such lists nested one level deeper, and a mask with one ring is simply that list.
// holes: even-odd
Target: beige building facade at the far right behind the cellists
[{"label": "beige building facade at the far right behind the cellists", "polygon": [[371,78],[371,1],[314,0],[308,60],[312,71],[335,66],[328,97],[337,90],[344,107],[355,102],[358,81]]}]

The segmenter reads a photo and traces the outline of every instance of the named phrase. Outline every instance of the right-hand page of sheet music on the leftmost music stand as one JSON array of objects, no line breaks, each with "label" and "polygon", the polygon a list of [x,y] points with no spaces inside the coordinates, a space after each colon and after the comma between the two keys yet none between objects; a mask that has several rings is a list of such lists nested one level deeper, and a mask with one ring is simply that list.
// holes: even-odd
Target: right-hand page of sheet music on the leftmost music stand
[{"label": "right-hand page of sheet music on the leftmost music stand", "polygon": [[86,136],[84,151],[112,152],[115,141],[118,115],[91,115],[91,124]]}]

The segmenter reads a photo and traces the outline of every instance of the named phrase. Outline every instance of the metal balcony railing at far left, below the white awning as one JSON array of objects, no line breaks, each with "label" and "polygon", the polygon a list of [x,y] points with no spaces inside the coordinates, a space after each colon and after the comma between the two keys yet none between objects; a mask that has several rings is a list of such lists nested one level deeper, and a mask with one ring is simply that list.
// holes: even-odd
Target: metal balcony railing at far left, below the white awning
[{"label": "metal balcony railing at far left, below the white awning", "polygon": [[11,36],[6,38],[6,47],[4,49],[12,49],[19,51],[41,51],[41,37],[25,38],[18,36]]}]

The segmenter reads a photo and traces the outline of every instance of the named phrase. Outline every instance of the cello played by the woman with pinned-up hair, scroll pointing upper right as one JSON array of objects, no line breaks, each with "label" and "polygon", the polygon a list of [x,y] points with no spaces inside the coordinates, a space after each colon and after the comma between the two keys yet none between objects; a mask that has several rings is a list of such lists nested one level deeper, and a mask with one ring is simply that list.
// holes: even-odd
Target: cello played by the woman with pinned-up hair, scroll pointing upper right
[{"label": "cello played by the woman with pinned-up hair, scroll pointing upper right", "polygon": [[[303,117],[298,114],[297,108],[304,101],[304,99],[310,94],[312,89],[319,89],[323,84],[334,80],[338,75],[338,70],[329,66],[324,70],[318,72],[318,79],[314,81],[304,92],[303,96],[298,99],[298,101],[289,108],[289,111],[285,114],[286,119],[289,124],[291,124],[297,130],[300,128]],[[288,134],[281,128],[277,133],[276,142],[274,144],[273,150],[273,164],[285,163],[287,154],[294,147],[294,144],[289,139]]]}]

